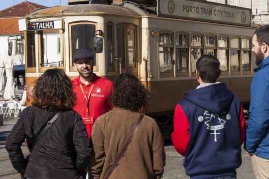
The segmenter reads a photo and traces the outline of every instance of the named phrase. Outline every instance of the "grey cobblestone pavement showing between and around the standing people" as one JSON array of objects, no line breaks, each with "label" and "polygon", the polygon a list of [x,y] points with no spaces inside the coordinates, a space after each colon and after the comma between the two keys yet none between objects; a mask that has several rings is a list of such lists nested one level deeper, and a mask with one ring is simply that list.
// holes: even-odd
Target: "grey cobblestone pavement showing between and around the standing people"
[{"label": "grey cobblestone pavement showing between and around the standing people", "polygon": [[[16,122],[16,119],[4,119],[4,125],[0,126],[0,132],[11,130],[12,125]],[[0,142],[0,179],[20,179],[20,175],[13,169],[7,152],[4,149],[5,142]],[[27,147],[21,147],[23,154],[28,155],[29,151]],[[185,175],[182,162],[184,157],[180,156],[173,146],[165,147],[166,153],[166,166],[164,168],[163,179],[189,179]],[[242,148],[242,166],[237,170],[238,179],[255,179],[254,172],[252,170],[249,154]],[[216,166],[217,169],[217,166]]]}]

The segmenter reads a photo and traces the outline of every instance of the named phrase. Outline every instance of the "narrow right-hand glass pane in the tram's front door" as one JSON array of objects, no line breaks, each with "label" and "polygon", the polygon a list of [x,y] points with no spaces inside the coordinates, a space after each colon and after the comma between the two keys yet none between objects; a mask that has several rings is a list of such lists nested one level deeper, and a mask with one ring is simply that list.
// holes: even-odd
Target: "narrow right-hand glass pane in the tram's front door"
[{"label": "narrow right-hand glass pane in the tram's front door", "polygon": [[128,67],[135,68],[134,29],[128,29]]}]

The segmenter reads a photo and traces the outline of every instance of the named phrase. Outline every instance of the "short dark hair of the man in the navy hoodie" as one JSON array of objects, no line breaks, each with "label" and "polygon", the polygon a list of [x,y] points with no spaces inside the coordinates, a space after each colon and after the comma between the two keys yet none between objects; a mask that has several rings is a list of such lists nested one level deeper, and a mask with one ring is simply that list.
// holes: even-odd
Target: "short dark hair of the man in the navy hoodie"
[{"label": "short dark hair of the man in the navy hoodie", "polygon": [[196,69],[203,82],[215,83],[220,75],[220,61],[213,55],[203,55],[197,60]]}]

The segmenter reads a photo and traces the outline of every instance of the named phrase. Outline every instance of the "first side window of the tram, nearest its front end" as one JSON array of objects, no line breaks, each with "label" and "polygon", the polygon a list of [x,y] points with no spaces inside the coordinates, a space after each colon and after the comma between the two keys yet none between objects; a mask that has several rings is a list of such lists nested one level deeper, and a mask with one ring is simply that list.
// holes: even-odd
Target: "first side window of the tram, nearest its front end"
[{"label": "first side window of the tram, nearest its front end", "polygon": [[169,32],[159,33],[159,62],[160,62],[160,73],[169,74],[168,77],[172,76],[172,60],[173,60],[173,35]]}]

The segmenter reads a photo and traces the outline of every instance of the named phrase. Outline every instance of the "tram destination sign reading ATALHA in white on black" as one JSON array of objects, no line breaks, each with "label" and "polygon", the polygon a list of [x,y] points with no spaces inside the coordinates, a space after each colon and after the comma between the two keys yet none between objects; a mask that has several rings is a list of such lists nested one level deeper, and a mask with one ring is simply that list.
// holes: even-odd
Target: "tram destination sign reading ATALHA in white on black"
[{"label": "tram destination sign reading ATALHA in white on black", "polygon": [[27,30],[61,29],[62,20],[28,22]]}]

